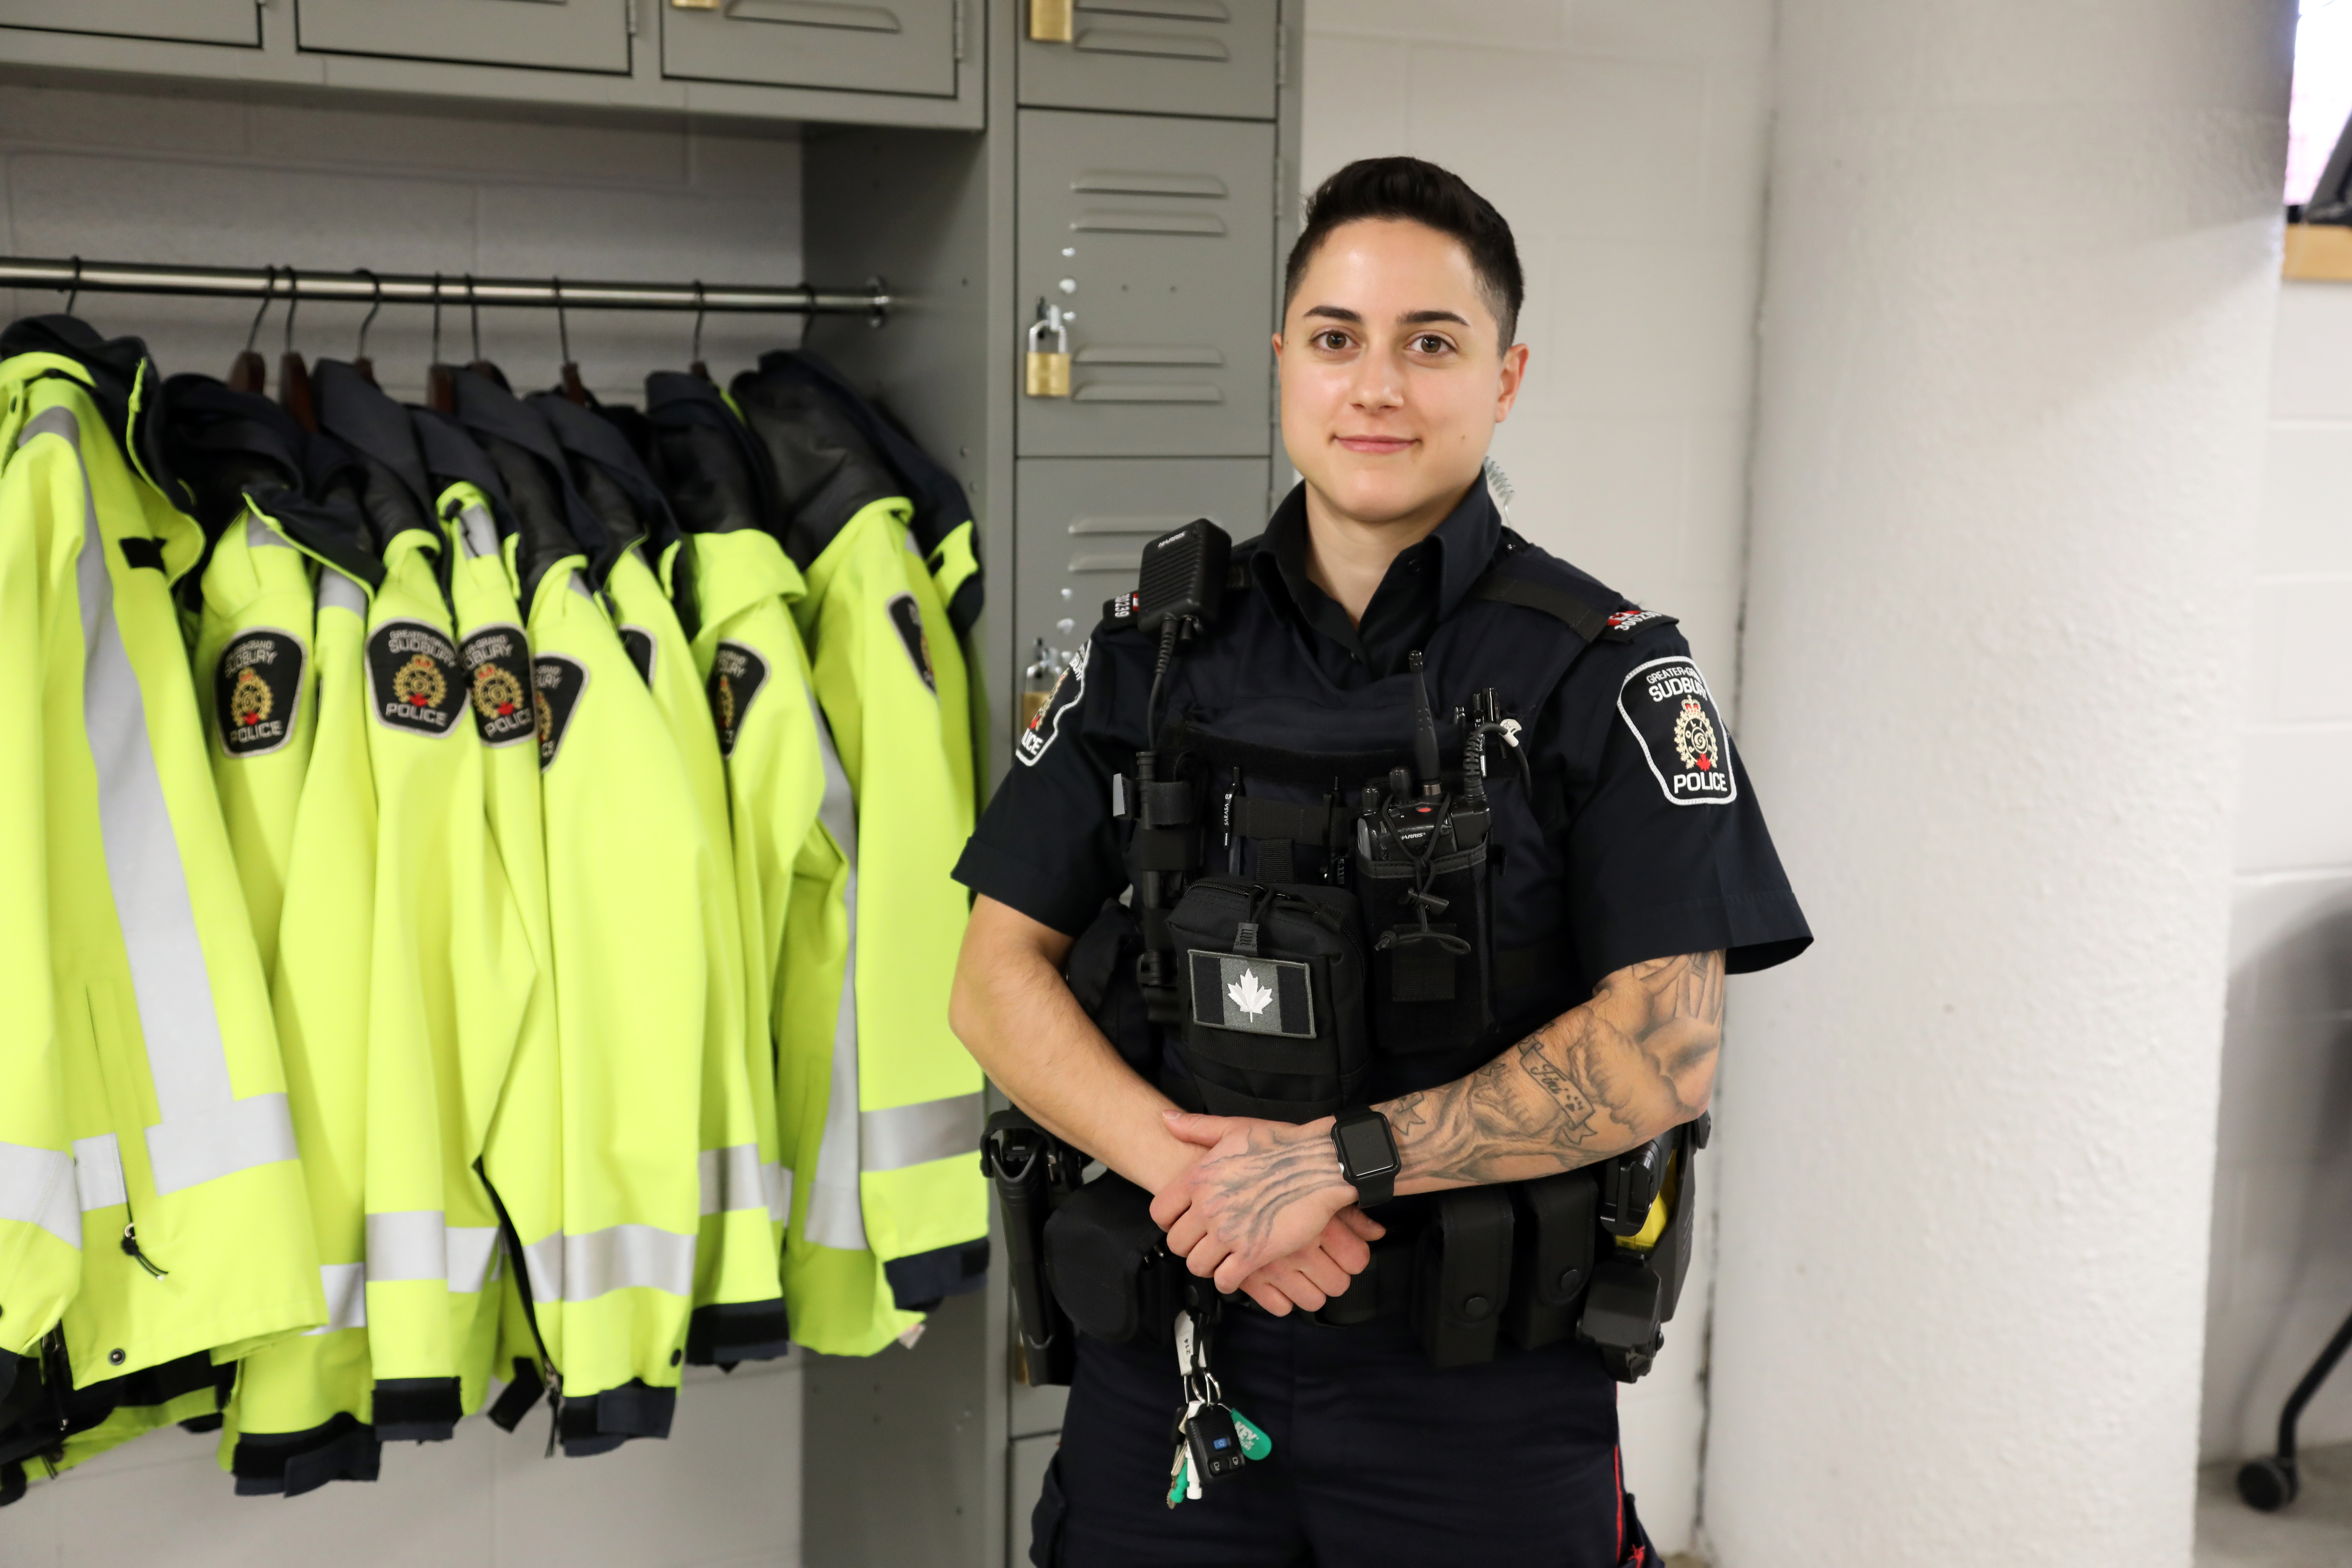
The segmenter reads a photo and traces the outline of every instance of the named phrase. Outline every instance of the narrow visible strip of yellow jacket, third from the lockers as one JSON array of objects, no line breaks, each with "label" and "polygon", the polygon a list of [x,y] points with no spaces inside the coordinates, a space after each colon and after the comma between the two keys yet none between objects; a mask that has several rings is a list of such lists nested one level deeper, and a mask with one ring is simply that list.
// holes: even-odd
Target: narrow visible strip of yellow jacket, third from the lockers
[{"label": "narrow visible strip of yellow jacket, third from the lockers", "polygon": [[788,1211],[783,1166],[776,1159],[776,1067],[764,1030],[746,1027],[746,950],[727,764],[687,630],[666,585],[677,581],[682,541],[652,475],[614,425],[553,393],[534,395],[529,407],[562,444],[574,489],[600,529],[595,557],[602,588],[619,618],[621,644],[677,743],[706,839],[706,877],[715,891],[706,903],[710,992],[703,1051],[703,1222],[694,1248],[687,1361],[764,1361],[781,1356],[790,1342],[779,1279]]}]

